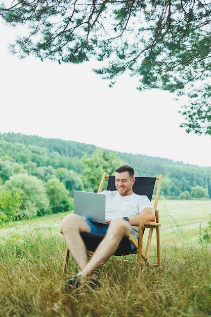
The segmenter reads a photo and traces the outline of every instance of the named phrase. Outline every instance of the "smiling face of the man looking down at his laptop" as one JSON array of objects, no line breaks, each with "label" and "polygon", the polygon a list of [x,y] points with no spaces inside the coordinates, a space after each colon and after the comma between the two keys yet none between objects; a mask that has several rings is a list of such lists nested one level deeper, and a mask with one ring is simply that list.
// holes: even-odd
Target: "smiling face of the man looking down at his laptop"
[{"label": "smiling face of the man looking down at his laptop", "polygon": [[131,178],[128,172],[116,173],[115,186],[121,196],[129,196],[133,193],[135,178]]}]

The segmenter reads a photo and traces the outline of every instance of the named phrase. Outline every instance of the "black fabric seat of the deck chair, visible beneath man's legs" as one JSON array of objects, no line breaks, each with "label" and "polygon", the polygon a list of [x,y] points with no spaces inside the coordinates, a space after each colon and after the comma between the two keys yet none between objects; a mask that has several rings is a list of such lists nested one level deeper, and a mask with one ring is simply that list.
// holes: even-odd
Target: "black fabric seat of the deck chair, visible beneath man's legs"
[{"label": "black fabric seat of the deck chair, visible beneath man's legs", "polygon": [[[91,252],[95,252],[97,249],[98,245],[101,243],[103,240],[105,234],[100,234],[100,233],[88,233],[88,232],[83,232],[80,234],[83,242],[85,243],[85,246],[87,250]],[[113,255],[128,255],[128,254],[133,254],[136,253],[137,250],[134,248],[134,250],[131,249],[131,243],[128,239],[128,236],[125,236],[122,238],[117,250]]]}]

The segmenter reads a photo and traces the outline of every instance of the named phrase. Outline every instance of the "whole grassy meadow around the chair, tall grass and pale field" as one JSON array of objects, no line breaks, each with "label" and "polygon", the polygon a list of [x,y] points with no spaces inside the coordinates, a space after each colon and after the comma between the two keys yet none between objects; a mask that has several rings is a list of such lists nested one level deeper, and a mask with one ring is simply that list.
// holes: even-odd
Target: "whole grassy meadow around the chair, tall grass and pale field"
[{"label": "whole grassy meadow around the chair, tall grass and pale field", "polygon": [[2,228],[0,316],[211,316],[211,252],[201,239],[210,201],[160,200],[158,209],[161,268],[109,260],[97,272],[96,290],[64,288],[78,268],[70,258],[61,273],[61,214]]}]

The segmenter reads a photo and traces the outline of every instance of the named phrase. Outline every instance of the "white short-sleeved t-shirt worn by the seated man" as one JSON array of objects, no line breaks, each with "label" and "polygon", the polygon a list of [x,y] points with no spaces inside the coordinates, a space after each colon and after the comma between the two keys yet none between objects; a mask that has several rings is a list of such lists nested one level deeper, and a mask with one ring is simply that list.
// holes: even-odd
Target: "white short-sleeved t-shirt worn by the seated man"
[{"label": "white short-sleeved t-shirt worn by the seated man", "polygon": [[[106,195],[106,219],[131,218],[140,215],[144,208],[153,208],[146,195],[133,193],[129,196],[121,196],[118,190],[104,190],[100,194]],[[132,227],[138,232],[139,227]]]}]

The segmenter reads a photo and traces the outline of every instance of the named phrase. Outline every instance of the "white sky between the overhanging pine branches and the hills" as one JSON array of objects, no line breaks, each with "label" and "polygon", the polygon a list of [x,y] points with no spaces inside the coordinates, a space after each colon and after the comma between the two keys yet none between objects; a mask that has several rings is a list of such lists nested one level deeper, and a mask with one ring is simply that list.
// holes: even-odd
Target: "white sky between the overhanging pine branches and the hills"
[{"label": "white sky between the overhanging pine branches and the hills", "polygon": [[211,166],[211,139],[179,127],[181,101],[168,92],[136,90],[119,77],[115,86],[81,65],[18,59],[7,43],[17,32],[0,21],[0,133],[15,132]]}]

